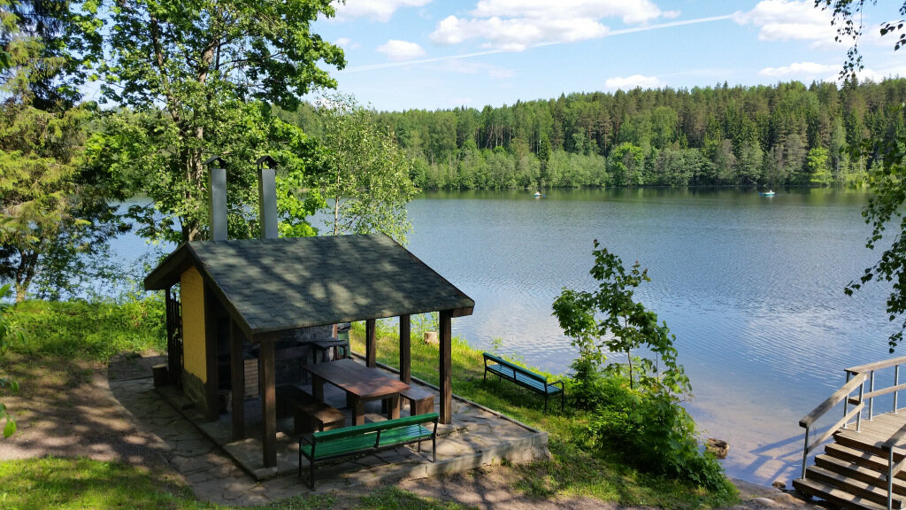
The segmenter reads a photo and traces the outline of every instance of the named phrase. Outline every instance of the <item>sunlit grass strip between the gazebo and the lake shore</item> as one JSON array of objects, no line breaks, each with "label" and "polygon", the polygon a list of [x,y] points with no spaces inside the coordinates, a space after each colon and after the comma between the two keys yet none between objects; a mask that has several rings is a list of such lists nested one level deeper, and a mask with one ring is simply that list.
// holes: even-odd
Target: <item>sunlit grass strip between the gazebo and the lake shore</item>
[{"label": "sunlit grass strip between the gazebo and the lake shore", "polygon": [[[379,324],[376,353],[378,361],[399,368],[398,329],[387,323]],[[415,324],[410,344],[412,375],[437,385],[439,348],[425,343],[422,339],[423,331]],[[361,324],[353,325],[350,338],[353,350],[365,351],[364,327]],[[543,397],[507,381],[497,381],[496,378],[487,378],[485,381],[481,352],[469,347],[461,338],[453,338],[453,392],[527,425],[546,430],[549,435],[548,447],[552,454],[550,460],[510,467],[516,475],[516,487],[526,495],[539,498],[557,495],[592,496],[615,501],[620,505],[683,509],[730,506],[738,502],[736,494],[710,493],[674,480],[645,475],[616,459],[594,455],[587,446],[584,433],[587,429],[587,416],[583,412],[574,412],[567,405],[561,413],[559,402],[556,402],[545,413]]]}]

